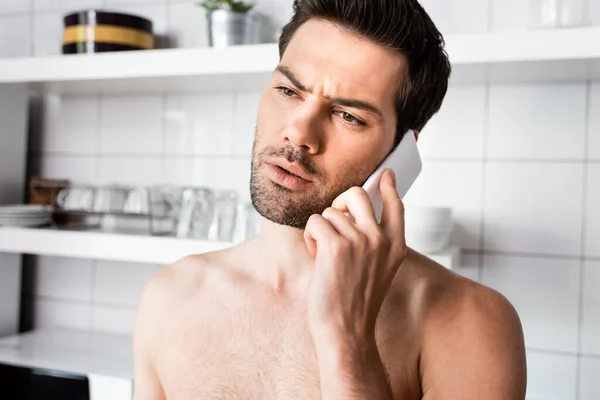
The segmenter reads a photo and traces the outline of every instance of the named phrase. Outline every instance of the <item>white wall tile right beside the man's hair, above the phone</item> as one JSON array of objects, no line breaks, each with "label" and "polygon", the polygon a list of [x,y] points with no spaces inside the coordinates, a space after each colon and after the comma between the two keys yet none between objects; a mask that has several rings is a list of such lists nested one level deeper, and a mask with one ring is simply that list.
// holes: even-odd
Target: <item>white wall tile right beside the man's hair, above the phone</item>
[{"label": "white wall tile right beside the man's hair, above the phone", "polygon": [[419,136],[423,158],[483,158],[486,87],[450,87],[439,113]]}]

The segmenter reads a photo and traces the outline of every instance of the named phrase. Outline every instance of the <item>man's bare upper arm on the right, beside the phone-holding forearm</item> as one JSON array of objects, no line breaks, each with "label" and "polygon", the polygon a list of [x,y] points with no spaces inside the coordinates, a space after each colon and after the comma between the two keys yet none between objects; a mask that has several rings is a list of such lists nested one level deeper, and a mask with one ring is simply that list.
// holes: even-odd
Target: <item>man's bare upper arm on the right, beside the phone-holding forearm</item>
[{"label": "man's bare upper arm on the right, beside the phone-holding forearm", "polygon": [[525,399],[525,345],[516,311],[482,286],[469,284],[465,292],[456,307],[440,301],[426,326],[423,399]]}]

